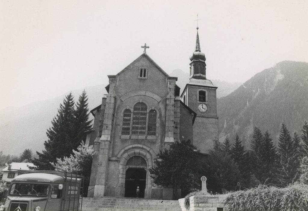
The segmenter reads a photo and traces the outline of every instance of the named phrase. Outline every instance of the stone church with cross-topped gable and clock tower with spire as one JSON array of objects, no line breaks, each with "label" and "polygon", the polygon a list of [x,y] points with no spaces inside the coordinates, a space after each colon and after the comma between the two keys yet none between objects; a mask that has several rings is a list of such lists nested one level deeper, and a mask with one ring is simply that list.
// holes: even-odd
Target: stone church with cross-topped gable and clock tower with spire
[{"label": "stone church with cross-topped gable and clock tower with spire", "polygon": [[139,186],[140,197],[172,199],[172,188],[157,186],[149,174],[159,151],[190,139],[198,153],[207,155],[218,138],[217,87],[206,78],[198,31],[190,81],[182,93],[177,77],[148,56],[146,44],[142,48],[143,54],[126,68],[108,75],[108,94],[91,110],[93,130],[86,144],[96,152],[88,197],[136,197]]}]

